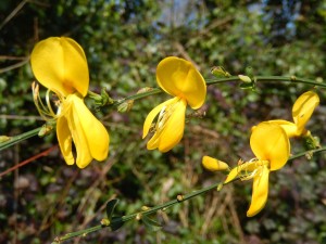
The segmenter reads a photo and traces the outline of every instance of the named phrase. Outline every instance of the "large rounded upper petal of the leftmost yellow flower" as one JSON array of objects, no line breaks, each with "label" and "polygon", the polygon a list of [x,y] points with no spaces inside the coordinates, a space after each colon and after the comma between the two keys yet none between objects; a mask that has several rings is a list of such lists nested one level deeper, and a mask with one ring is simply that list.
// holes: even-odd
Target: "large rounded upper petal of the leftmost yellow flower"
[{"label": "large rounded upper petal of the leftmost yellow flower", "polygon": [[30,55],[37,80],[48,89],[66,97],[78,91],[87,94],[89,74],[82,47],[71,38],[50,37],[38,42]]}]

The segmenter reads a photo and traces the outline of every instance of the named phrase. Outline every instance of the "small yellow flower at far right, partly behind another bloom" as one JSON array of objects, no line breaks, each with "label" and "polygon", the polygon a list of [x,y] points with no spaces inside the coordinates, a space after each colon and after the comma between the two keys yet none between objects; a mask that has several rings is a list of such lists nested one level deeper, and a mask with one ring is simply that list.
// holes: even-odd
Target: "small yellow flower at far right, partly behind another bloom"
[{"label": "small yellow flower at far right, partly behind another bloom", "polygon": [[283,119],[269,120],[281,126],[289,138],[308,136],[305,125],[312,116],[315,107],[319,104],[319,97],[313,91],[301,94],[293,104],[292,117],[294,123]]}]

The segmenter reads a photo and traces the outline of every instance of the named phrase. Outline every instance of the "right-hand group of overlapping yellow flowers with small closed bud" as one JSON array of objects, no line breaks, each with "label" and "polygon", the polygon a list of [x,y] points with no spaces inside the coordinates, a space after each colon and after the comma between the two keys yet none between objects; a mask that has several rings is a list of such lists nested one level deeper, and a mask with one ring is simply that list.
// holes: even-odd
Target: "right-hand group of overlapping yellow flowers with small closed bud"
[{"label": "right-hand group of overlapping yellow flowers with small closed bud", "polygon": [[305,125],[318,103],[317,93],[308,91],[301,94],[293,104],[294,123],[275,119],[252,127],[250,146],[255,157],[248,162],[240,160],[238,166],[231,170],[224,162],[209,156],[202,158],[203,166],[211,171],[229,170],[224,181],[225,184],[237,178],[253,180],[252,200],[247,211],[248,217],[256,215],[265,206],[268,195],[269,172],[283,168],[287,163],[290,155],[289,139],[310,134]]}]

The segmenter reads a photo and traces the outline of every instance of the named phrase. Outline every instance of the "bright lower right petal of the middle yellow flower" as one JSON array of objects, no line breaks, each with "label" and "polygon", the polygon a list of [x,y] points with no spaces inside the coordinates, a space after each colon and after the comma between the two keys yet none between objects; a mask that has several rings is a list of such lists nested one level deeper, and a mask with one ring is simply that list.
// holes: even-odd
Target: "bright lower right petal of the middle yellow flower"
[{"label": "bright lower right petal of the middle yellow flower", "polygon": [[187,103],[184,100],[179,100],[174,106],[174,112],[165,124],[162,125],[162,129],[159,128],[148,141],[148,150],[159,147],[160,152],[165,153],[183,139]]}]

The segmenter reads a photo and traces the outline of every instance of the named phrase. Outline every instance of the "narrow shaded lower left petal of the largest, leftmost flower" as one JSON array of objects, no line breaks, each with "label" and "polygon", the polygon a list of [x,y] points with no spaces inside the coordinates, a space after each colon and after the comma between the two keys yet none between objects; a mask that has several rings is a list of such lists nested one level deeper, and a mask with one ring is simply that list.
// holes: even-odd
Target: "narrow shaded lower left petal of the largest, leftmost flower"
[{"label": "narrow shaded lower left petal of the largest, leftmost flower", "polygon": [[63,116],[57,120],[57,137],[64,160],[67,165],[73,165],[75,163],[72,152],[73,138],[66,118]]}]

